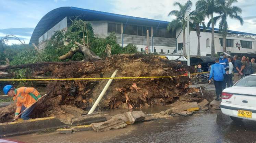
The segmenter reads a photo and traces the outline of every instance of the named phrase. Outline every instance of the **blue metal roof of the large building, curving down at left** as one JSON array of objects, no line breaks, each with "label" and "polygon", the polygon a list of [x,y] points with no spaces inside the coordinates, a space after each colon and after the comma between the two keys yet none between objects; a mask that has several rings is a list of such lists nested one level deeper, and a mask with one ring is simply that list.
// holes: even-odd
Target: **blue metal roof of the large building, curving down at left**
[{"label": "blue metal roof of the large building, curving down at left", "polygon": [[[41,18],[41,20],[38,22],[31,36],[29,44],[32,44],[32,43],[38,44],[38,38],[41,35],[43,35],[45,32],[51,29],[64,17],[73,17],[73,16],[83,17],[84,20],[95,20],[95,21],[109,20],[109,21],[118,21],[123,23],[125,23],[126,20],[129,19],[128,23],[130,24],[153,26],[153,27],[157,27],[158,25],[159,27],[167,27],[169,23],[168,21],[161,21],[161,20],[108,13],[108,12],[81,9],[77,7],[59,7],[57,9],[54,9],[48,12],[44,17]],[[211,28],[208,28],[208,30],[211,30]],[[217,28],[215,28],[215,30],[219,31],[219,29]],[[256,35],[252,33],[238,32],[238,31],[231,31],[231,30],[229,30],[229,32],[234,34]]]}]

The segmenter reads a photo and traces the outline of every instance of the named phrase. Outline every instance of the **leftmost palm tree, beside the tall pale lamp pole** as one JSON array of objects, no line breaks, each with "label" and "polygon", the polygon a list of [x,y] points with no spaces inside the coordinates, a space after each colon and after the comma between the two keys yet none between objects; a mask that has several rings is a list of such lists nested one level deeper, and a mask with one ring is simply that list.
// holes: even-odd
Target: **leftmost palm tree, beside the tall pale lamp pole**
[{"label": "leftmost palm tree, beside the tall pale lamp pole", "polygon": [[192,7],[192,2],[188,0],[184,5],[182,5],[179,2],[174,2],[173,6],[179,6],[179,11],[178,10],[173,10],[171,11],[168,16],[174,15],[176,16],[176,19],[173,19],[167,26],[167,30],[176,30],[177,28],[182,27],[183,30],[183,49],[182,53],[185,56],[186,55],[186,48],[185,48],[185,28],[187,26],[187,20],[186,20],[186,13],[189,13],[191,11]]}]

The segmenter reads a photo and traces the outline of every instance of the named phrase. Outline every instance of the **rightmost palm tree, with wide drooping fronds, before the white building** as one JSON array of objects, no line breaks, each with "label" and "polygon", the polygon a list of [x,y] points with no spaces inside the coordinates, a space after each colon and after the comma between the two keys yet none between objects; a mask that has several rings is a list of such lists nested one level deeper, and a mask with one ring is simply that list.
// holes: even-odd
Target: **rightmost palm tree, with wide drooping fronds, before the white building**
[{"label": "rightmost palm tree, with wide drooping fronds, before the white building", "polygon": [[242,9],[238,6],[232,6],[232,4],[235,2],[237,2],[237,0],[221,1],[219,3],[219,5],[221,6],[221,15],[214,17],[214,23],[220,20],[219,31],[220,33],[222,33],[223,36],[223,52],[227,52],[226,37],[229,29],[227,18],[230,17],[231,19],[236,19],[240,22],[241,25],[244,24],[243,18],[238,15],[242,13]]}]

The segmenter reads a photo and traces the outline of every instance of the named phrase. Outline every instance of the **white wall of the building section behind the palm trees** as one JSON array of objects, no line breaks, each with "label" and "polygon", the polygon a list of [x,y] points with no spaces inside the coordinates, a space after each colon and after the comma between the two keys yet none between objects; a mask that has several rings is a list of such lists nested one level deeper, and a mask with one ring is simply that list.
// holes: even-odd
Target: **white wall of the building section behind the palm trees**
[{"label": "white wall of the building section behind the palm trees", "polygon": [[[177,30],[176,35],[178,36],[179,32],[181,31],[181,28]],[[186,31],[185,31],[186,32]],[[215,40],[215,53],[223,51],[223,47],[220,44],[220,39],[223,38],[221,34],[215,33],[214,40]],[[186,35],[187,39],[187,35]],[[209,39],[209,47],[206,47],[206,40]],[[235,36],[235,35],[227,35],[226,39],[233,39],[233,46],[234,47],[227,47],[227,51],[230,51],[232,53],[248,53],[248,52],[256,52],[256,40],[254,38],[244,37],[244,36]],[[236,43],[240,43],[240,40],[242,41],[251,41],[252,42],[252,49],[243,48],[241,45],[241,48],[236,47]],[[179,37],[177,38],[177,49],[178,44],[183,42],[183,31],[180,33]],[[186,41],[187,43],[187,41]],[[202,56],[206,56],[206,54],[211,54],[211,33],[210,32],[200,32],[200,51]],[[186,52],[187,52],[187,46],[186,46]],[[178,50],[178,53],[182,53],[181,50]],[[196,31],[190,32],[190,54],[191,55],[197,55],[197,35]]]}]

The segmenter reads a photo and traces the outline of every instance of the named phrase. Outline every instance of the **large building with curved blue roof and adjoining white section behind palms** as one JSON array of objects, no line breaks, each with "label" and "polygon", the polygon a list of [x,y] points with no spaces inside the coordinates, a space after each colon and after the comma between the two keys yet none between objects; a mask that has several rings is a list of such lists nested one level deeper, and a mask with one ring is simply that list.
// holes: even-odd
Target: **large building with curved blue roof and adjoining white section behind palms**
[{"label": "large building with curved blue roof and adjoining white section behind palms", "polygon": [[[77,7],[59,7],[48,12],[38,22],[29,44],[39,45],[43,48],[44,41],[49,39],[55,31],[68,28],[72,19],[75,18],[90,21],[92,23],[95,36],[107,37],[111,32],[115,32],[117,43],[125,46],[129,43],[135,44],[139,51],[145,50],[146,31],[150,35],[150,51],[158,53],[182,52],[182,30],[174,32],[167,31],[168,21],[139,18],[120,14],[113,14],[101,11],[81,9]],[[201,27],[202,28],[202,27]],[[200,34],[201,55],[210,54],[211,48],[211,28],[206,28],[206,32]],[[215,53],[222,51],[222,36],[219,29],[215,28]],[[256,52],[256,34],[228,31],[227,51],[236,53]],[[197,54],[197,36],[195,31],[190,34],[191,55]]]}]

